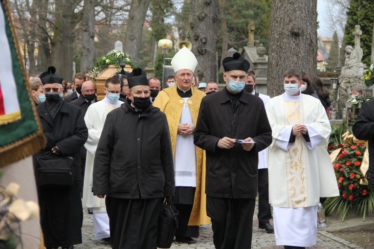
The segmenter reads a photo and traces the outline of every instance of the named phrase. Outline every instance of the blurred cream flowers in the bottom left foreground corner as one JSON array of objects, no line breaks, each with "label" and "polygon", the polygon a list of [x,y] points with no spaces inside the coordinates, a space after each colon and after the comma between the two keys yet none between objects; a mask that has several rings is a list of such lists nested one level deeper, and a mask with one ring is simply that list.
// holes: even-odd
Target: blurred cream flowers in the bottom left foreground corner
[{"label": "blurred cream flowers in the bottom left foreground corner", "polygon": [[20,185],[14,182],[0,190],[0,248],[16,248],[21,242],[20,222],[39,215],[38,204],[17,199],[19,190]]}]

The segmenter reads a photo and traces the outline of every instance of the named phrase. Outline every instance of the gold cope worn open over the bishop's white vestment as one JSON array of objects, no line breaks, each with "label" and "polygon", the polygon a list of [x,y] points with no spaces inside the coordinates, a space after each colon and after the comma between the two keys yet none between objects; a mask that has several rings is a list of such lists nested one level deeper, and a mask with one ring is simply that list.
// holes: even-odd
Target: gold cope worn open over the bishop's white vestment
[{"label": "gold cope worn open over the bishop's white vestment", "polygon": [[[153,106],[159,108],[166,114],[172,141],[173,157],[176,152],[176,135],[178,124],[182,114],[184,100],[176,91],[177,84],[173,87],[160,91],[153,102]],[[187,100],[188,107],[192,115],[194,124],[198,120],[200,103],[205,93],[191,87],[192,96]],[[196,192],[195,200],[188,226],[199,226],[210,224],[210,218],[206,215],[206,195],[205,195],[205,151],[196,147]]]}]

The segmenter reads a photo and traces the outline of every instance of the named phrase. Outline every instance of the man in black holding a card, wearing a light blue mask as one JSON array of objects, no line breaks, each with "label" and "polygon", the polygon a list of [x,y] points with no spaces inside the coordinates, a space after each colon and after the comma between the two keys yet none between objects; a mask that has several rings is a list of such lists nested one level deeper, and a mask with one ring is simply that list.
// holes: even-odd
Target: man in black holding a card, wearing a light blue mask
[{"label": "man in black holding a card, wearing a light blue mask", "polygon": [[206,209],[215,247],[250,249],[258,152],[270,145],[271,128],[263,101],[243,91],[249,62],[234,53],[222,65],[226,88],[202,99],[194,142],[206,151]]}]

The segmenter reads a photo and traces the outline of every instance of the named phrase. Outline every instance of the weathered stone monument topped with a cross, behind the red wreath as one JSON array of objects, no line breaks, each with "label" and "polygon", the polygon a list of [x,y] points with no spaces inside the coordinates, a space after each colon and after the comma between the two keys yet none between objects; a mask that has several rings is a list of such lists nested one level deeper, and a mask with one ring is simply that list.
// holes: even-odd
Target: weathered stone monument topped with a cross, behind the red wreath
[{"label": "weathered stone monument topped with a cross, behind the red wreath", "polygon": [[363,52],[360,47],[360,37],[362,35],[360,25],[355,25],[352,34],[354,35],[354,48],[351,45],[346,46],[346,60],[339,75],[339,96],[338,101],[335,101],[335,109],[338,110],[339,117],[342,116],[347,100],[351,97],[351,88],[362,84],[364,80],[364,64],[361,62]]}]

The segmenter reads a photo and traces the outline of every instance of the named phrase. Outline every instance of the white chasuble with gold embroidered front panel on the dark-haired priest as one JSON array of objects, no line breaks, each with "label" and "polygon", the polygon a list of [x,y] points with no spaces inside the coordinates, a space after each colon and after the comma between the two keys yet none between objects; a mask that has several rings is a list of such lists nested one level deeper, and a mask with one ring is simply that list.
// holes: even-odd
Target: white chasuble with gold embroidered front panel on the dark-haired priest
[{"label": "white chasuble with gold embroidered front panel on the dark-haired priest", "polygon": [[[273,136],[268,154],[269,200],[274,207],[314,206],[320,197],[339,195],[326,150],[330,121],[318,99],[306,94],[291,97],[276,96],[265,107]],[[308,136],[299,134],[289,142],[295,124],[306,125]]]}]

